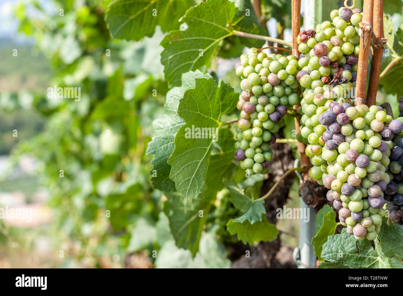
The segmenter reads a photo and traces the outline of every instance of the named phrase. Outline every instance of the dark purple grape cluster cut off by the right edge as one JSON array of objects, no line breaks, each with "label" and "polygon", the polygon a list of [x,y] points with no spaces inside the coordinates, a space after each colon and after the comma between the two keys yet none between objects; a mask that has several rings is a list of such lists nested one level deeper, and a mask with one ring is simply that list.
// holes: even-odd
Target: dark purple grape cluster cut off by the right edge
[{"label": "dark purple grape cluster cut off by the right edge", "polygon": [[[397,118],[402,122],[403,117]],[[399,124],[399,123],[398,123]],[[389,169],[387,173],[391,181],[386,185],[384,199],[388,204],[386,209],[389,217],[395,224],[403,225],[403,133],[394,137],[396,145],[391,149]]]}]

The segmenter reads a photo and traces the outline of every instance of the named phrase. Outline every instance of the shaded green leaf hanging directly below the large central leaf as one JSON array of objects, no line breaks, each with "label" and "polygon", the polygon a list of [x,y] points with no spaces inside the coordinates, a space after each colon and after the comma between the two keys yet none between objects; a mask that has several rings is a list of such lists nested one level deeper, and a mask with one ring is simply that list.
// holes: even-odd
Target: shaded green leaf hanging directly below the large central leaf
[{"label": "shaded green leaf hanging directly below the large central leaf", "polygon": [[197,252],[203,226],[213,201],[200,197],[185,199],[181,194],[168,193],[164,213],[169,219],[172,235],[178,247]]}]

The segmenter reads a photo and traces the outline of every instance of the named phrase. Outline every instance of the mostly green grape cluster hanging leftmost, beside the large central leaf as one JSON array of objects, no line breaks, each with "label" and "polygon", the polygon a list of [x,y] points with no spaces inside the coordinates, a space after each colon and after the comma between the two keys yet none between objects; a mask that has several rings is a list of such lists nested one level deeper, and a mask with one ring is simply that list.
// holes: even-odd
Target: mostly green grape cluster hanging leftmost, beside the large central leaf
[{"label": "mostly green grape cluster hanging leftmost, beside the large central leaf", "polygon": [[290,106],[299,103],[296,79],[298,61],[251,48],[241,55],[236,73],[242,78],[242,93],[237,103],[241,111],[236,135],[235,159],[250,174],[267,174],[272,160],[270,145],[284,126],[283,116]]}]

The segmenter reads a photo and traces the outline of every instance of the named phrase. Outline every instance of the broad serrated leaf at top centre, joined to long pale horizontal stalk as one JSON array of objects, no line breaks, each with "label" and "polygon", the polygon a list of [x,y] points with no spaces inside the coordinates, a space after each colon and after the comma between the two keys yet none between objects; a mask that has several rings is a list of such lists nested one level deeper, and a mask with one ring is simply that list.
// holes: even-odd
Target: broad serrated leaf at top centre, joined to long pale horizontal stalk
[{"label": "broad serrated leaf at top centre, joined to long pale horizontal stalk", "polygon": [[[233,29],[256,33],[260,28],[254,24],[252,14],[249,19],[244,11],[242,17],[236,14],[235,4],[228,0],[208,0],[187,10],[181,19],[188,25],[187,29],[171,31],[161,42],[165,80],[170,85],[178,85],[181,73],[208,66],[220,41],[234,35]],[[263,44],[249,42],[256,46]]]}]

